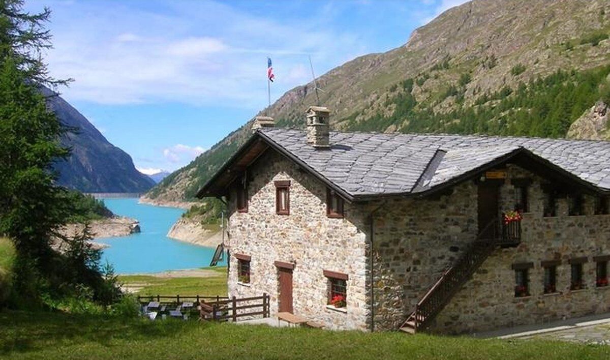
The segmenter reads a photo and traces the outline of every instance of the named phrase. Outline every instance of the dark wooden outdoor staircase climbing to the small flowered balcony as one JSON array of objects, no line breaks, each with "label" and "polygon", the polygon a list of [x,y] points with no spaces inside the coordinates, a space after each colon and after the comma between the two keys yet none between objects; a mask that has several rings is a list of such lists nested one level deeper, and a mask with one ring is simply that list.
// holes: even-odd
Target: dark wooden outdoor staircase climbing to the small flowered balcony
[{"label": "dark wooden outdoor staircase climbing to the small flowered balcony", "polygon": [[500,245],[514,246],[519,244],[521,223],[517,221],[504,224],[502,220],[494,220],[481,231],[481,234],[491,234],[491,238],[480,239],[481,236],[477,237],[462,257],[445,270],[436,283],[418,301],[415,310],[400,326],[400,331],[415,334],[417,331],[425,329],[495,248]]}]

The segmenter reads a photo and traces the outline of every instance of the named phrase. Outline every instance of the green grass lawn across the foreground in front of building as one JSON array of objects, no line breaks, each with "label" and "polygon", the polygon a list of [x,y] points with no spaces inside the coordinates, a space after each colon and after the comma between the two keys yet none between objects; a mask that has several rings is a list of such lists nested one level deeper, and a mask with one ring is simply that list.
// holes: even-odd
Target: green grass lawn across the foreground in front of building
[{"label": "green grass lawn across the foreground in front of building", "polygon": [[608,359],[610,347],[0,312],[7,359]]}]

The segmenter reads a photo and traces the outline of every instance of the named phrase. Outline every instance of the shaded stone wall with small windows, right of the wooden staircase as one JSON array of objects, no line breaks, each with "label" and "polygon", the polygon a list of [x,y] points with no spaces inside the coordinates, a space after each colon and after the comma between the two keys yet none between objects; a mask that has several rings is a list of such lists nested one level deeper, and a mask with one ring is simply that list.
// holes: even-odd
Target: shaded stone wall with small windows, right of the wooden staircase
[{"label": "shaded stone wall with small windows, right of the wooden staircase", "polygon": [[[586,196],[584,214],[569,216],[565,198],[559,198],[558,216],[542,216],[542,181],[515,166],[509,178],[533,179],[529,186],[529,212],[522,220],[522,242],[516,248],[496,250],[450,303],[437,315],[431,330],[437,333],[474,333],[504,326],[544,323],[552,320],[610,311],[610,287],[596,287],[594,256],[610,254],[610,215],[593,215],[594,198]],[[510,198],[510,180],[501,187],[502,203]],[[584,290],[570,290],[572,257],[587,256],[583,265]],[[557,292],[543,294],[542,261],[559,260]],[[512,264],[533,262],[529,269],[531,296],[515,298]]]}]

